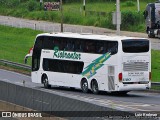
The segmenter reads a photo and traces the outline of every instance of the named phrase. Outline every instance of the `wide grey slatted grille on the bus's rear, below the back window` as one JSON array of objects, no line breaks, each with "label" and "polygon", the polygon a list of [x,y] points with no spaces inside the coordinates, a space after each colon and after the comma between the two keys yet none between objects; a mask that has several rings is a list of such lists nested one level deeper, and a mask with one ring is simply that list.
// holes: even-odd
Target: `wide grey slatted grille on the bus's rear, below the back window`
[{"label": "wide grey slatted grille on the bus's rear, below the back window", "polygon": [[144,62],[123,63],[123,71],[148,71],[148,65]]}]

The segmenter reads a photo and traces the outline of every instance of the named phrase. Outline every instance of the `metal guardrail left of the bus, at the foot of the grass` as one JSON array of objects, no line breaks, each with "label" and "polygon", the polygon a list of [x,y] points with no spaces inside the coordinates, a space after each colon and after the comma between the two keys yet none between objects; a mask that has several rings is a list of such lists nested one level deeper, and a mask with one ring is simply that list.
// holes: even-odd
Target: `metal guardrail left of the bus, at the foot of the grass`
[{"label": "metal guardrail left of the bus, at the foot of the grass", "polygon": [[15,66],[15,67],[20,67],[20,68],[24,68],[24,69],[27,69],[27,70],[31,70],[31,66],[29,66],[29,65],[16,63],[16,62],[4,60],[4,59],[0,59],[0,63],[4,63],[4,64],[7,64],[7,65],[12,65],[12,66]]}]

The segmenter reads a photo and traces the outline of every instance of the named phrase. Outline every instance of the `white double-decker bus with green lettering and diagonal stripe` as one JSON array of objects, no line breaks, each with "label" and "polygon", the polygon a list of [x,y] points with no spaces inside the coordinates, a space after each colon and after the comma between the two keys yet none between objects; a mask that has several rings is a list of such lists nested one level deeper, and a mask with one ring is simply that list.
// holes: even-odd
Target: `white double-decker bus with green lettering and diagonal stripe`
[{"label": "white double-decker bus with green lettering and diagonal stripe", "polygon": [[126,94],[151,87],[151,43],[146,38],[79,33],[36,36],[32,82]]}]

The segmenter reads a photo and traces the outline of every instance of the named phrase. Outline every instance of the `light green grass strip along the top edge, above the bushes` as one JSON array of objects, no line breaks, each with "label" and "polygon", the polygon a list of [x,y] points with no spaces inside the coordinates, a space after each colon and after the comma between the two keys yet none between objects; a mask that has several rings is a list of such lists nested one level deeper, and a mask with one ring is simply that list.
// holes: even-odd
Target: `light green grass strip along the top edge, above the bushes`
[{"label": "light green grass strip along the top edge, above the bushes", "polygon": [[[128,5],[128,1],[131,1],[134,5]],[[148,3],[155,2],[155,0],[140,0],[140,11],[144,11],[146,5]],[[82,9],[83,4],[80,3],[68,3],[64,4],[64,10],[68,10],[70,8],[74,8],[76,10]],[[136,0],[122,0],[120,1],[120,9],[121,11],[137,11],[137,1]],[[116,2],[115,1],[106,1],[106,2],[87,2],[86,3],[87,11],[98,11],[98,12],[113,12],[116,11]]]}]

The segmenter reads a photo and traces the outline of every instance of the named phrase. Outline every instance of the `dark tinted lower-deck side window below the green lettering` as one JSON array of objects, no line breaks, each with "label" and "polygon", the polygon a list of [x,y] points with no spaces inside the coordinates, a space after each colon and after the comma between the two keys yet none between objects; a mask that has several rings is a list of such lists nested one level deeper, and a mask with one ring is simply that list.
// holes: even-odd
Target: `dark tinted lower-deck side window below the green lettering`
[{"label": "dark tinted lower-deck side window below the green lettering", "polygon": [[43,69],[45,71],[80,74],[83,66],[84,63],[80,61],[43,59]]}]

